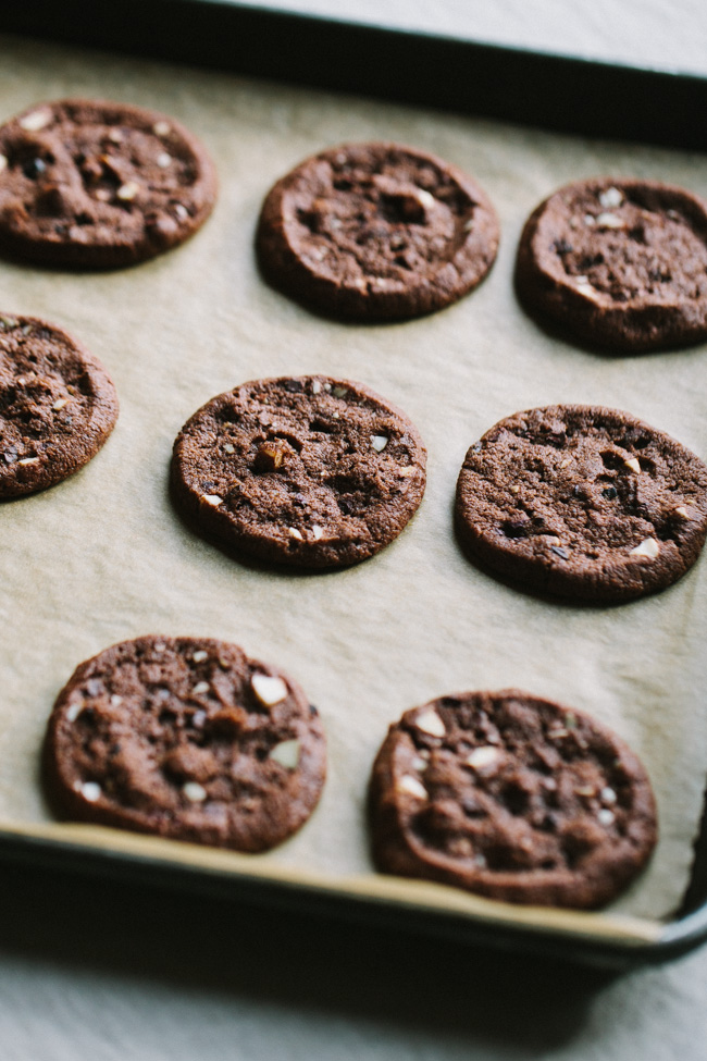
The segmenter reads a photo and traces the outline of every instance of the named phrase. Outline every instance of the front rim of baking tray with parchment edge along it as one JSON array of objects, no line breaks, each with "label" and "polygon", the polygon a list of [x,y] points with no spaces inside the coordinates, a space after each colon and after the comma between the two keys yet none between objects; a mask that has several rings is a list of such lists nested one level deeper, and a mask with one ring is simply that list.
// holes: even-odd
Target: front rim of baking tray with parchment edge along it
[{"label": "front rim of baking tray with parchment edge along it", "polygon": [[[232,901],[259,906],[276,904],[345,921],[394,924],[421,935],[511,946],[530,953],[616,969],[662,962],[680,957],[692,946],[692,934],[686,938],[684,933],[675,935],[671,926],[647,918],[609,915],[601,934],[592,924],[594,916],[604,920],[601,912],[579,912],[578,918],[576,911],[553,909],[547,912],[554,924],[537,924],[532,920],[532,908],[510,908],[429,881],[382,874],[337,878],[263,863],[253,863],[244,871],[248,855],[103,826],[3,825],[0,854],[8,862],[159,884],[173,890],[218,893]],[[193,861],[193,856],[201,861]],[[400,897],[401,888],[410,895]],[[452,903],[445,904],[445,897],[451,897]],[[463,909],[466,900],[485,906],[487,913],[474,916]],[[584,918],[586,928],[582,930],[576,922]]]}]

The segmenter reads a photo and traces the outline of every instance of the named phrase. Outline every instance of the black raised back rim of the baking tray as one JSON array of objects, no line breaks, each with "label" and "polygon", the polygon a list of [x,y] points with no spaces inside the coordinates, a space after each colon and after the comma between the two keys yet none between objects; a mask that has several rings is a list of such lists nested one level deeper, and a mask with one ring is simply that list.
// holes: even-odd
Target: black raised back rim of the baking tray
[{"label": "black raised back rim of the baking tray", "polygon": [[[0,5],[0,33],[600,139],[707,151],[707,127],[691,121],[697,108],[707,108],[707,76],[702,74],[224,0],[23,0]],[[365,63],[356,58],[361,49]],[[427,66],[441,75],[420,77],[420,69]],[[571,90],[558,91],[558,79]]]}]

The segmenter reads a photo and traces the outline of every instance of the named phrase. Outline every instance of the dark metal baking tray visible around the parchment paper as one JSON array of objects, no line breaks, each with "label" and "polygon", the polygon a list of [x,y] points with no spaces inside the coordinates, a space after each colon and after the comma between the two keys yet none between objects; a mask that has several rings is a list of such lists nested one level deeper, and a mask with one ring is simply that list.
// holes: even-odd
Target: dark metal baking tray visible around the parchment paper
[{"label": "dark metal baking tray visible around the parchment paper", "polygon": [[[0,32],[73,46],[206,65],[238,74],[346,91],[411,106],[548,129],[707,149],[707,78],[407,33],[218,0],[23,0],[0,8]],[[421,71],[424,75],[421,76]],[[560,90],[561,89],[561,90]],[[604,939],[337,892],[327,887],[204,871],[183,861],[98,850],[61,838],[0,832],[0,855],[46,868],[299,908],[457,940],[562,959],[631,966],[677,958],[707,939],[707,814],[695,841],[691,883],[675,918],[649,941]]]}]

